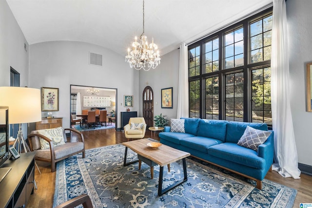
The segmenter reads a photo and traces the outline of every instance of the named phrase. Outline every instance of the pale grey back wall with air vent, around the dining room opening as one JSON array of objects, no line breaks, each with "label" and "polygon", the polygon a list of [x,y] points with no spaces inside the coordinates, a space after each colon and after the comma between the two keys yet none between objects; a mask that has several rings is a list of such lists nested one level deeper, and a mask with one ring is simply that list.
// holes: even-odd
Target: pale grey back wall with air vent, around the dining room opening
[{"label": "pale grey back wall with air vent, around the dining room opening", "polygon": [[[103,67],[89,65],[89,52],[103,55]],[[71,84],[117,88],[118,116],[126,110],[123,95],[134,95],[138,103],[137,70],[130,69],[123,56],[101,46],[76,41],[42,42],[30,45],[29,60],[30,87],[59,88],[59,111],[53,114],[63,117],[64,128],[70,125]],[[138,106],[133,111],[138,111]]]}]

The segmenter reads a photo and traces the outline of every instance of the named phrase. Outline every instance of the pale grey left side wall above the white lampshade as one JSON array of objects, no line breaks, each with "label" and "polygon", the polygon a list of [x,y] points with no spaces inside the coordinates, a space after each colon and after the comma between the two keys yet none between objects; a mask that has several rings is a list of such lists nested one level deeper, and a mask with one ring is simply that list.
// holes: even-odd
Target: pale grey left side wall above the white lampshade
[{"label": "pale grey left side wall above the white lampshade", "polygon": [[10,66],[20,73],[20,86],[28,85],[28,43],[5,0],[0,0],[0,86],[10,86]]}]

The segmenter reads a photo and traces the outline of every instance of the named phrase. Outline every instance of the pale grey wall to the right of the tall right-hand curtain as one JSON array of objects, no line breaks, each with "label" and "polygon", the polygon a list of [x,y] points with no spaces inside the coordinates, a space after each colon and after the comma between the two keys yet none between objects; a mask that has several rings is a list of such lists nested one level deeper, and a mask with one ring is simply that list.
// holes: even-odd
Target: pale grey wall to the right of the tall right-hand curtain
[{"label": "pale grey wall to the right of the tall right-hand curtain", "polygon": [[307,112],[306,63],[312,62],[312,1],[287,0],[290,89],[298,162],[312,166],[312,113]]}]

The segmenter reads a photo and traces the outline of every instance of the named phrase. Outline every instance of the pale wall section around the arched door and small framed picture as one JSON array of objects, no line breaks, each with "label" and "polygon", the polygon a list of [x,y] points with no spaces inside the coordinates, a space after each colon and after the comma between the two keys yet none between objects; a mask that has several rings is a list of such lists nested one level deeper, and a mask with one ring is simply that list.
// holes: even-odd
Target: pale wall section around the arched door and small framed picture
[{"label": "pale wall section around the arched door and small framed picture", "polygon": [[[150,71],[140,70],[139,79],[139,115],[142,116],[142,95],[146,86],[150,86],[154,93],[154,116],[162,113],[167,119],[176,118],[177,86],[179,77],[179,50],[174,50],[161,56],[160,65]],[[173,87],[173,108],[161,108],[161,89]],[[156,104],[157,103],[157,104]]]}]

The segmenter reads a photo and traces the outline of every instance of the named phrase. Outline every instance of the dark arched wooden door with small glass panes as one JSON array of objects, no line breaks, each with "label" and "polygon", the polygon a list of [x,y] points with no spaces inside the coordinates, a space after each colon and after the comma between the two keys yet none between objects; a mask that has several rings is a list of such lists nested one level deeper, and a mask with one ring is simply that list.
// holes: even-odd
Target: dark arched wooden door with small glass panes
[{"label": "dark arched wooden door with small glass panes", "polygon": [[143,91],[143,117],[147,128],[154,126],[153,90],[150,86],[147,86]]}]

